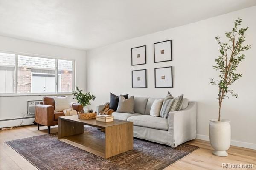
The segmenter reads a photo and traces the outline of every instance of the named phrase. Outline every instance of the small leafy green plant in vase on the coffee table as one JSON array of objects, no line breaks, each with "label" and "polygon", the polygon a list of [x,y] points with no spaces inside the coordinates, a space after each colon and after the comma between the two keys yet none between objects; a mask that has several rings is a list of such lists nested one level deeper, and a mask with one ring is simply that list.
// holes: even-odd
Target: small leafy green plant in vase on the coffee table
[{"label": "small leafy green plant in vase on the coffee table", "polygon": [[74,99],[77,100],[78,103],[83,105],[83,109],[81,113],[88,113],[88,109],[85,109],[85,106],[90,105],[90,101],[95,100],[95,96],[90,94],[90,92],[83,93],[82,90],[76,86],[76,90],[72,91]]}]

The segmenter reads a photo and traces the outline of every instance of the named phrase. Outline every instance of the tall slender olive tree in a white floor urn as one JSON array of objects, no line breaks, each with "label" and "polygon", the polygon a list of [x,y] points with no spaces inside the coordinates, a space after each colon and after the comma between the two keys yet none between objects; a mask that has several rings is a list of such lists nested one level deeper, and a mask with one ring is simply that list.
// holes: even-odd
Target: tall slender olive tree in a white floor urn
[{"label": "tall slender olive tree in a white floor urn", "polygon": [[220,37],[215,37],[220,46],[220,56],[215,59],[216,65],[213,68],[219,71],[219,79],[210,79],[210,84],[218,86],[218,119],[210,119],[209,136],[210,143],[214,148],[213,154],[216,156],[228,156],[226,150],[230,147],[231,127],[230,121],[221,119],[221,105],[228,94],[238,97],[238,94],[230,90],[230,85],[242,77],[241,73],[237,73],[236,69],[239,63],[244,59],[245,55],[241,54],[244,50],[249,50],[250,45],[243,46],[245,41],[246,28],[238,28],[242,19],[235,20],[235,26],[230,32],[226,32],[228,42],[221,42]]}]

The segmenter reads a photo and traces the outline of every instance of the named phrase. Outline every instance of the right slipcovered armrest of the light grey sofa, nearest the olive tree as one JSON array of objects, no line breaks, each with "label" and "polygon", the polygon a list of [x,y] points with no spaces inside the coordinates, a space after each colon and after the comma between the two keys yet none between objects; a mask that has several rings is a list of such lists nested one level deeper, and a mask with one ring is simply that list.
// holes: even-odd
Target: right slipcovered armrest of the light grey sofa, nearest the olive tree
[{"label": "right slipcovered armrest of the light grey sofa, nearest the olive tree", "polygon": [[169,112],[168,132],[173,136],[174,147],[195,139],[197,103],[189,102],[186,109]]}]

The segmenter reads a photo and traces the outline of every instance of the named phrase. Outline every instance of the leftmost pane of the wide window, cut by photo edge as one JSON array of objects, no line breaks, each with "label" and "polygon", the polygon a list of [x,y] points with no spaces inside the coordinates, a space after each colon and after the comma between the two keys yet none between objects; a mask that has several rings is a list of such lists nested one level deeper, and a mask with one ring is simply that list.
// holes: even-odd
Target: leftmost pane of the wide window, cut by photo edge
[{"label": "leftmost pane of the wide window, cut by photo edge", "polygon": [[15,93],[15,54],[0,53],[0,93]]}]

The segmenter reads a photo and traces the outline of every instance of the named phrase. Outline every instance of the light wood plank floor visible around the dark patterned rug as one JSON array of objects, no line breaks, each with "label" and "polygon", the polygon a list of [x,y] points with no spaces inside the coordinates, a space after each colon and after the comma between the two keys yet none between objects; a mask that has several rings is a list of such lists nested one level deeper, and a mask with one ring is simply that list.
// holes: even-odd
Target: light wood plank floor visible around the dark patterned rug
[{"label": "light wood plank floor visible around the dark patterned rug", "polygon": [[[58,132],[58,126],[52,127],[51,133],[55,132]],[[0,130],[0,170],[37,170],[4,142],[42,134],[47,134],[47,127],[40,127],[40,130],[37,130],[36,126]],[[223,170],[225,168],[222,168],[222,163],[250,163],[254,165],[252,170],[256,169],[256,150],[231,146],[228,150],[229,156],[218,157],[212,155],[209,142],[195,139],[187,143],[201,148],[166,167],[165,170]]]}]

